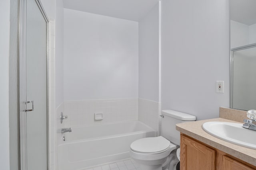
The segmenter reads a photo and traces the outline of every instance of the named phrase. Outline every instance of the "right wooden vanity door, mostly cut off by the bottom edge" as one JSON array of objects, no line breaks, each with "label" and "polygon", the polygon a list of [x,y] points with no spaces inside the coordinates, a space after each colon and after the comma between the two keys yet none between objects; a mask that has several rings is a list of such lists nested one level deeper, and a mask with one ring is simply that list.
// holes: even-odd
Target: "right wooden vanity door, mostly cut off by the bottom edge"
[{"label": "right wooden vanity door, mostly cut off by the bottom edge", "polygon": [[223,155],[222,161],[222,170],[254,170],[253,168],[250,168],[249,166],[246,166],[245,164],[242,164],[241,162],[238,162],[225,155]]}]

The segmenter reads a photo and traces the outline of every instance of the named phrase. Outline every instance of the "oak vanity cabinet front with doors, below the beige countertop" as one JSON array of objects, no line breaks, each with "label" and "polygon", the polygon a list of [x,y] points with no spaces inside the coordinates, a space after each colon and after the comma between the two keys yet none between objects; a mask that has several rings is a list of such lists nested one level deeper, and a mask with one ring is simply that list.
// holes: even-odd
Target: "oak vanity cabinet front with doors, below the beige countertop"
[{"label": "oak vanity cabinet front with doors, below the beige countertop", "polygon": [[256,170],[256,166],[181,133],[180,170]]}]

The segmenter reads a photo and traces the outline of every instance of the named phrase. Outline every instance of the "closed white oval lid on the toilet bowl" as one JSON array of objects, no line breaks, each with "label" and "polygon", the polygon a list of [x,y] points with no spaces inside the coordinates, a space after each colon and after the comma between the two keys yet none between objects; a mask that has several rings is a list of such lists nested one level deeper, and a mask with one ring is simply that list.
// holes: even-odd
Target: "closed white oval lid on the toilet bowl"
[{"label": "closed white oval lid on the toilet bowl", "polygon": [[133,151],[141,153],[162,153],[168,150],[169,147],[170,141],[162,136],[138,139],[131,144]]}]

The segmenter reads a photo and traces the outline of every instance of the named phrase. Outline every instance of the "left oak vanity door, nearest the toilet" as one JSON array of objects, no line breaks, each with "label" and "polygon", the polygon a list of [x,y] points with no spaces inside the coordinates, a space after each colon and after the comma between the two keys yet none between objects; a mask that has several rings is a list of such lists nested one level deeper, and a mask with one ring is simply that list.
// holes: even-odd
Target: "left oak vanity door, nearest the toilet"
[{"label": "left oak vanity door, nearest the toilet", "polygon": [[180,136],[181,170],[215,170],[216,150],[194,141],[184,135]]}]

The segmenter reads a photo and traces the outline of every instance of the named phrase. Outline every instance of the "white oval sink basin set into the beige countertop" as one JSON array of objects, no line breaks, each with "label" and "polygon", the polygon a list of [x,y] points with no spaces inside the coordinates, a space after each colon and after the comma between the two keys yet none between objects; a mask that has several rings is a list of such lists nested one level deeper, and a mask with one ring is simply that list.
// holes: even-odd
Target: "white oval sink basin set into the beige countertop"
[{"label": "white oval sink basin set into the beige countertop", "polygon": [[256,149],[256,131],[245,129],[240,123],[210,121],[202,125],[210,135],[242,147]]}]

